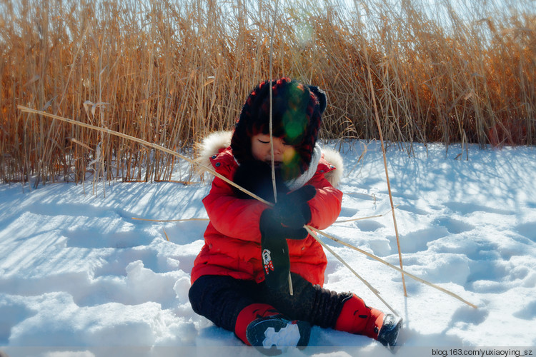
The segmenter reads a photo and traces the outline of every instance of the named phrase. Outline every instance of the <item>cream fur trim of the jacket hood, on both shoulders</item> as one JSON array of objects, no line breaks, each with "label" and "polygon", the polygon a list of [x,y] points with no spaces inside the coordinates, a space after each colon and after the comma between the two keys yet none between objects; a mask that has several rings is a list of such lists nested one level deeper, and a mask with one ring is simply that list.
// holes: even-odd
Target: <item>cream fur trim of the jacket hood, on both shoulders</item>
[{"label": "cream fur trim of the jacket hood, on both shoulders", "polygon": [[[226,149],[231,144],[232,131],[217,131],[205,139],[199,144],[198,152],[199,156],[197,162],[203,166],[212,166],[210,158],[217,155],[222,149]],[[337,187],[344,170],[344,164],[342,162],[342,156],[338,151],[333,149],[322,148],[322,156],[324,160],[334,166],[334,170],[331,170],[325,174],[325,178],[332,186]]]}]

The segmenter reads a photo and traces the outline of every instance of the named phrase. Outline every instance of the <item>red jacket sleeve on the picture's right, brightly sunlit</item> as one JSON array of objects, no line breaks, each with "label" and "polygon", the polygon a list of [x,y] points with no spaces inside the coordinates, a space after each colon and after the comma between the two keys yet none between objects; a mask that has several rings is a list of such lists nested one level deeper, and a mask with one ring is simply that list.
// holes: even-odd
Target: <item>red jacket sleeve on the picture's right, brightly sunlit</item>
[{"label": "red jacket sleeve on the picture's right, brightly sunlit", "polygon": [[342,206],[342,191],[334,188],[322,174],[316,174],[308,184],[317,188],[317,194],[309,201],[311,208],[310,226],[325,229],[339,217]]}]

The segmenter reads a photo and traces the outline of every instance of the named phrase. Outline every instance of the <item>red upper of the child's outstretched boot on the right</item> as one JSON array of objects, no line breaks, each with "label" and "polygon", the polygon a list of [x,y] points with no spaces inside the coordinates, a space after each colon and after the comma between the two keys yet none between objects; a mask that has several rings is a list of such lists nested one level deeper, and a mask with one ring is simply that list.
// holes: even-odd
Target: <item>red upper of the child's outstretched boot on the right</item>
[{"label": "red upper of the child's outstretched boot on the right", "polygon": [[335,330],[378,338],[382,327],[384,313],[365,305],[362,298],[353,295],[342,306],[341,313],[335,323]]}]

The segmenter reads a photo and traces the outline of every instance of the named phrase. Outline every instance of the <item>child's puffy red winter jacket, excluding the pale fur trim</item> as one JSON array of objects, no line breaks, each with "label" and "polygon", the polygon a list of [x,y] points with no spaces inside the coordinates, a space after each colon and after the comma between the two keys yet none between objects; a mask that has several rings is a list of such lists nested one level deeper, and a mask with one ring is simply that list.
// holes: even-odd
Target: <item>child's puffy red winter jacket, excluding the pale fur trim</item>
[{"label": "child's puffy red winter jacket, excluding the pale fur trim", "polygon": [[[219,149],[210,157],[210,163],[219,174],[229,179],[233,178],[238,167],[229,147]],[[308,202],[312,216],[309,225],[315,228],[329,227],[341,210],[342,192],[324,177],[334,169],[322,155],[316,173],[307,182],[317,188],[316,196]],[[204,233],[204,246],[194,261],[192,283],[204,275],[263,281],[259,218],[268,206],[254,199],[237,198],[232,186],[217,177],[212,181],[212,188],[203,204],[210,222]],[[288,239],[287,243],[290,270],[322,286],[327,265],[322,246],[312,236],[302,240]]]}]

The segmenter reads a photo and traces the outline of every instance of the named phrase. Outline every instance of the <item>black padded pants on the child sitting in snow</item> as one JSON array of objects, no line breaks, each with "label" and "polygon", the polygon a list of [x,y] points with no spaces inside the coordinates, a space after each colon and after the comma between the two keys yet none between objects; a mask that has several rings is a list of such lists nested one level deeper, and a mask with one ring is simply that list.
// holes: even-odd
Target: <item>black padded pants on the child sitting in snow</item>
[{"label": "black padded pants on the child sitting in snow", "polygon": [[292,273],[294,294],[288,286],[274,291],[264,282],[238,280],[230,276],[202,276],[189,291],[190,303],[196,313],[208,318],[216,326],[234,331],[237,316],[252,303],[267,303],[292,320],[307,321],[324,328],[334,327],[344,301],[352,293],[335,293],[312,285]]}]

